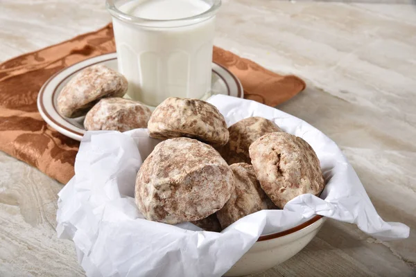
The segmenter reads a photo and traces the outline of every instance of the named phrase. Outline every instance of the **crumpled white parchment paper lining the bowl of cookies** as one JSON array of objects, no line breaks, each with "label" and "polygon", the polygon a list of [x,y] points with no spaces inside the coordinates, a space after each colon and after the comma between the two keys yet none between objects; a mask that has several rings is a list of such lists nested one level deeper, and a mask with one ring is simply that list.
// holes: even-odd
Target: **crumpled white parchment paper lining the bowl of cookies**
[{"label": "crumpled white parchment paper lining the bowl of cookies", "polygon": [[141,163],[159,143],[147,129],[87,132],[76,157],[76,175],[59,193],[59,238],[73,240],[87,276],[221,276],[259,235],[284,231],[313,215],[357,224],[380,240],[408,238],[408,226],[384,222],[336,143],[308,123],[258,102],[213,96],[227,125],[250,116],[275,121],[307,141],[320,159],[327,186],[320,197],[300,195],[284,210],[259,211],[221,233],[190,223],[145,220],[134,201]]}]

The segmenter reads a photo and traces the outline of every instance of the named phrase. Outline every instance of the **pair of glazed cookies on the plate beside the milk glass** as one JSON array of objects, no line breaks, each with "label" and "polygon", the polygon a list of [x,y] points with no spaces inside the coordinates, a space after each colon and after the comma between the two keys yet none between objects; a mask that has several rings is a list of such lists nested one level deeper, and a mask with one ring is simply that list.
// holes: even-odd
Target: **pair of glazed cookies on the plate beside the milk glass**
[{"label": "pair of glazed cookies on the plate beside the milk glass", "polygon": [[122,98],[128,82],[107,66],[90,66],[75,75],[58,96],[58,111],[67,118],[85,116],[84,127],[91,130],[146,128],[152,112],[141,102]]}]

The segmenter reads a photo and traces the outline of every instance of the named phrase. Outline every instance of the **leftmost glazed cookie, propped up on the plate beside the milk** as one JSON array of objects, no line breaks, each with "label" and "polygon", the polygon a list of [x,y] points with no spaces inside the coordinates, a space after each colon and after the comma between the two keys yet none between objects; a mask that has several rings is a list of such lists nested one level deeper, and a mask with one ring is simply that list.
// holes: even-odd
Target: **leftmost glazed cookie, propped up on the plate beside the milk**
[{"label": "leftmost glazed cookie, propped up on the plate beside the milk", "polygon": [[107,66],[94,65],[73,77],[58,96],[58,110],[70,118],[83,116],[98,100],[123,97],[128,82],[120,73]]}]

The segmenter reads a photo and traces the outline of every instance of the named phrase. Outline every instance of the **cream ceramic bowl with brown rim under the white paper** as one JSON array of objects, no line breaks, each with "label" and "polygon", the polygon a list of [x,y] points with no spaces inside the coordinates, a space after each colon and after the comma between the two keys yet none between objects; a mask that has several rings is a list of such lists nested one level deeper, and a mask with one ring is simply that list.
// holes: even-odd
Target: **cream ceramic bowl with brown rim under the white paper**
[{"label": "cream ceramic bowl with brown rim under the white paper", "polygon": [[292,229],[262,235],[224,276],[259,273],[292,258],[315,237],[325,220],[326,217],[315,215]]}]

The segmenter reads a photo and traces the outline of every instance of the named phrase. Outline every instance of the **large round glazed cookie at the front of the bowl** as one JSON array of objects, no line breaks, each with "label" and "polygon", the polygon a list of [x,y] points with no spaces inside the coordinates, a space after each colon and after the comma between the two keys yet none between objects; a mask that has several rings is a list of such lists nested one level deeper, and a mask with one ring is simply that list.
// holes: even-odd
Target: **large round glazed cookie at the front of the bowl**
[{"label": "large round glazed cookie at the front of the bowl", "polygon": [[146,219],[177,224],[215,213],[232,190],[232,170],[214,148],[176,138],[159,143],[141,165],[135,199]]}]

